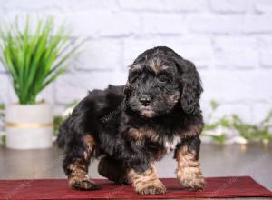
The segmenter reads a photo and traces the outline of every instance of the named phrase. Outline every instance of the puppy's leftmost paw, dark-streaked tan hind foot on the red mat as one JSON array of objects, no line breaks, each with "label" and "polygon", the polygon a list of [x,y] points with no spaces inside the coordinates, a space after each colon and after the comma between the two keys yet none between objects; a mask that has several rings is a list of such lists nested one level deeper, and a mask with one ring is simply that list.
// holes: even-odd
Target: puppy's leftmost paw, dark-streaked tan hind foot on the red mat
[{"label": "puppy's leftmost paw, dark-streaked tan hind foot on the red mat", "polygon": [[98,189],[98,186],[92,182],[88,175],[71,175],[68,178],[68,183],[74,190]]}]

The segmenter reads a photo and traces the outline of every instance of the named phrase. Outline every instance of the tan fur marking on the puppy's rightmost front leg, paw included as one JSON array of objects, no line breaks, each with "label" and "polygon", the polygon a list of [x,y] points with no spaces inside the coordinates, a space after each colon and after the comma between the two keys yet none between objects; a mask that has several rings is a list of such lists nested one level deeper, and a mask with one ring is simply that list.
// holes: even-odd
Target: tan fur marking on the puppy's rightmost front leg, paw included
[{"label": "tan fur marking on the puppy's rightmost front leg, paw included", "polygon": [[202,190],[205,185],[205,180],[196,155],[190,153],[188,146],[184,145],[177,150],[175,157],[178,161],[176,174],[180,184],[193,190]]}]

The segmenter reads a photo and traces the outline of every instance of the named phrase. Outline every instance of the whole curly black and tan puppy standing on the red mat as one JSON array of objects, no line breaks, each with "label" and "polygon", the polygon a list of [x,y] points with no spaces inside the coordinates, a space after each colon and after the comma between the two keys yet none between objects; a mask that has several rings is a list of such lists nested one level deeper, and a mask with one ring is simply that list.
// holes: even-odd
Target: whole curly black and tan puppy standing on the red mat
[{"label": "whole curly black and tan puppy standing on the red mat", "polygon": [[99,173],[133,185],[139,194],[164,194],[154,162],[174,150],[180,184],[203,188],[199,134],[203,127],[196,67],[168,47],[139,55],[126,85],[93,90],[60,127],[63,169],[73,189],[92,190],[93,158]]}]

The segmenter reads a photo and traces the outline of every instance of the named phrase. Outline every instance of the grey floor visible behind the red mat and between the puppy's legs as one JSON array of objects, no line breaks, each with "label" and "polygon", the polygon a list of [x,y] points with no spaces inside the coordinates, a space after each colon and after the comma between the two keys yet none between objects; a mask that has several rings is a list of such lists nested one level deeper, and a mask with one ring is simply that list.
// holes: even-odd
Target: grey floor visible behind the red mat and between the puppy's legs
[{"label": "grey floor visible behind the red mat and between the puppy's legs", "polygon": [[[55,146],[46,150],[17,151],[0,148],[0,179],[64,177],[62,150]],[[175,177],[176,161],[168,155],[157,163],[160,177]],[[205,176],[251,175],[272,190],[272,145],[208,145],[201,146],[200,160]],[[93,178],[97,161],[90,166]]]}]

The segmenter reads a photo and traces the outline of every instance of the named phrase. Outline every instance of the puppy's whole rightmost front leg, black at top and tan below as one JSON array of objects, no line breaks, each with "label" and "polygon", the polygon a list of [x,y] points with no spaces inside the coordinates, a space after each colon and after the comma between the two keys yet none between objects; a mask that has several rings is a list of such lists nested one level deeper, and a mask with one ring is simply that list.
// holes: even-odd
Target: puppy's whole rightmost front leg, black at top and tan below
[{"label": "puppy's whole rightmost front leg, black at top and tan below", "polygon": [[175,151],[178,161],[176,173],[180,184],[192,190],[202,190],[205,185],[200,170],[199,146],[200,139],[195,136],[184,140]]}]

